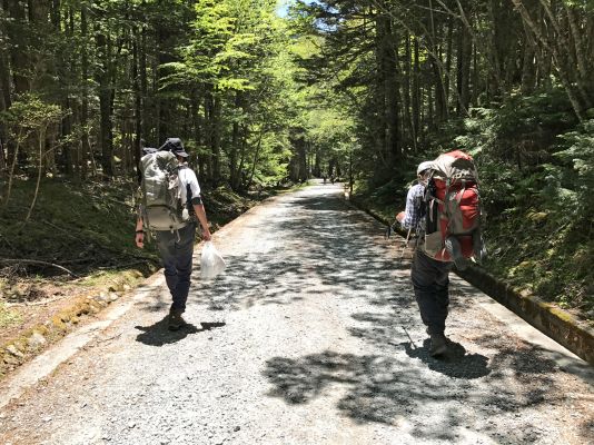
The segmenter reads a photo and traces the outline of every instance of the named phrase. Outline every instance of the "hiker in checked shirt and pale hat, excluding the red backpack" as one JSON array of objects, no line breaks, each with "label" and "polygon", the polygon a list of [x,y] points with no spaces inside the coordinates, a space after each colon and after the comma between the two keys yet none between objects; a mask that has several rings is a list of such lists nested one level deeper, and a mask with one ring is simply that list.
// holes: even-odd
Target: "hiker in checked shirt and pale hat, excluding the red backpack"
[{"label": "hiker in checked shirt and pale hat, excluding the red backpack", "polygon": [[[396,219],[405,229],[415,230],[418,236],[423,236],[424,230],[424,195],[432,167],[432,161],[418,165],[418,184],[408,190],[405,211],[396,215]],[[429,354],[434,357],[447,352],[448,340],[445,336],[445,320],[449,305],[448,275],[451,269],[452,263],[429,258],[417,244],[410,268],[410,278],[420,319],[427,326],[427,334],[430,337]]]}]

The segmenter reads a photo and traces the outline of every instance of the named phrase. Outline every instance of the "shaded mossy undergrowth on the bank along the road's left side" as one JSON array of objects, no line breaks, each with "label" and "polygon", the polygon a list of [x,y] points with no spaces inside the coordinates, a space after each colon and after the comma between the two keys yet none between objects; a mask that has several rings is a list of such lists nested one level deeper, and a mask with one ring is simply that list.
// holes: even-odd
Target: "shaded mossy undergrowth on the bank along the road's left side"
[{"label": "shaded mossy undergrowth on the bank along the road's left side", "polygon": [[[23,278],[66,284],[75,277],[92,286],[122,270],[155,271],[159,265],[155,243],[146,243],[143,249],[135,245],[135,190],[131,181],[76,185],[48,178],[26,222],[34,184],[17,178],[8,206],[0,208],[0,258],[4,260],[0,287]],[[202,198],[214,231],[258,200],[226,187],[207,190]]]}]

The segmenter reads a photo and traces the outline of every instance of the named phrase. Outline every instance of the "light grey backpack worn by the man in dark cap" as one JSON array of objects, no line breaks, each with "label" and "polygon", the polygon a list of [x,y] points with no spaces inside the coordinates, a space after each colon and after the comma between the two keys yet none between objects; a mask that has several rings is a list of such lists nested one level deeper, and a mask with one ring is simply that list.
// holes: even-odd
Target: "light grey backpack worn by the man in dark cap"
[{"label": "light grey backpack worn by the man in dark cap", "polygon": [[140,159],[142,221],[146,229],[172,231],[186,226],[179,168],[171,151],[156,151]]}]

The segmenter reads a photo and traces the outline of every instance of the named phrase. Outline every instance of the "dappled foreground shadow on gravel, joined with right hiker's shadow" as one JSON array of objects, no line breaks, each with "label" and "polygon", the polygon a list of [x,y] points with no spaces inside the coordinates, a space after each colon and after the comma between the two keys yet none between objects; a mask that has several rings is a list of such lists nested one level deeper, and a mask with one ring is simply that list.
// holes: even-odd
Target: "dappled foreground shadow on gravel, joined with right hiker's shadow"
[{"label": "dappled foreground shadow on gravel, joined with right hiker's shadow", "polygon": [[[387,425],[406,418],[414,426],[410,434],[419,442],[456,443],[457,426],[491,436],[497,443],[537,442],[535,438],[545,434],[534,428],[533,419],[524,411],[563,399],[547,375],[547,363],[542,364],[543,370],[538,364],[529,366],[528,358],[517,364],[525,372],[517,377],[521,383],[533,382],[517,394],[522,385],[509,385],[507,377],[489,372],[482,355],[467,355],[464,348],[454,345],[453,357],[437,360],[428,356],[427,347],[424,343],[423,347],[408,352],[420,359],[419,365],[398,354],[325,350],[299,358],[273,357],[263,374],[273,385],[268,395],[280,397],[289,405],[330,397],[330,393],[340,394],[336,408],[343,415],[359,423]],[[515,350],[506,349],[496,359],[507,360],[514,354]],[[474,382],[483,383],[479,386]],[[542,392],[534,390],[534,386],[542,387]],[[511,421],[506,421],[509,414]],[[484,418],[493,416],[501,418],[484,423]],[[509,429],[502,431],[501,422],[507,422]]]}]

